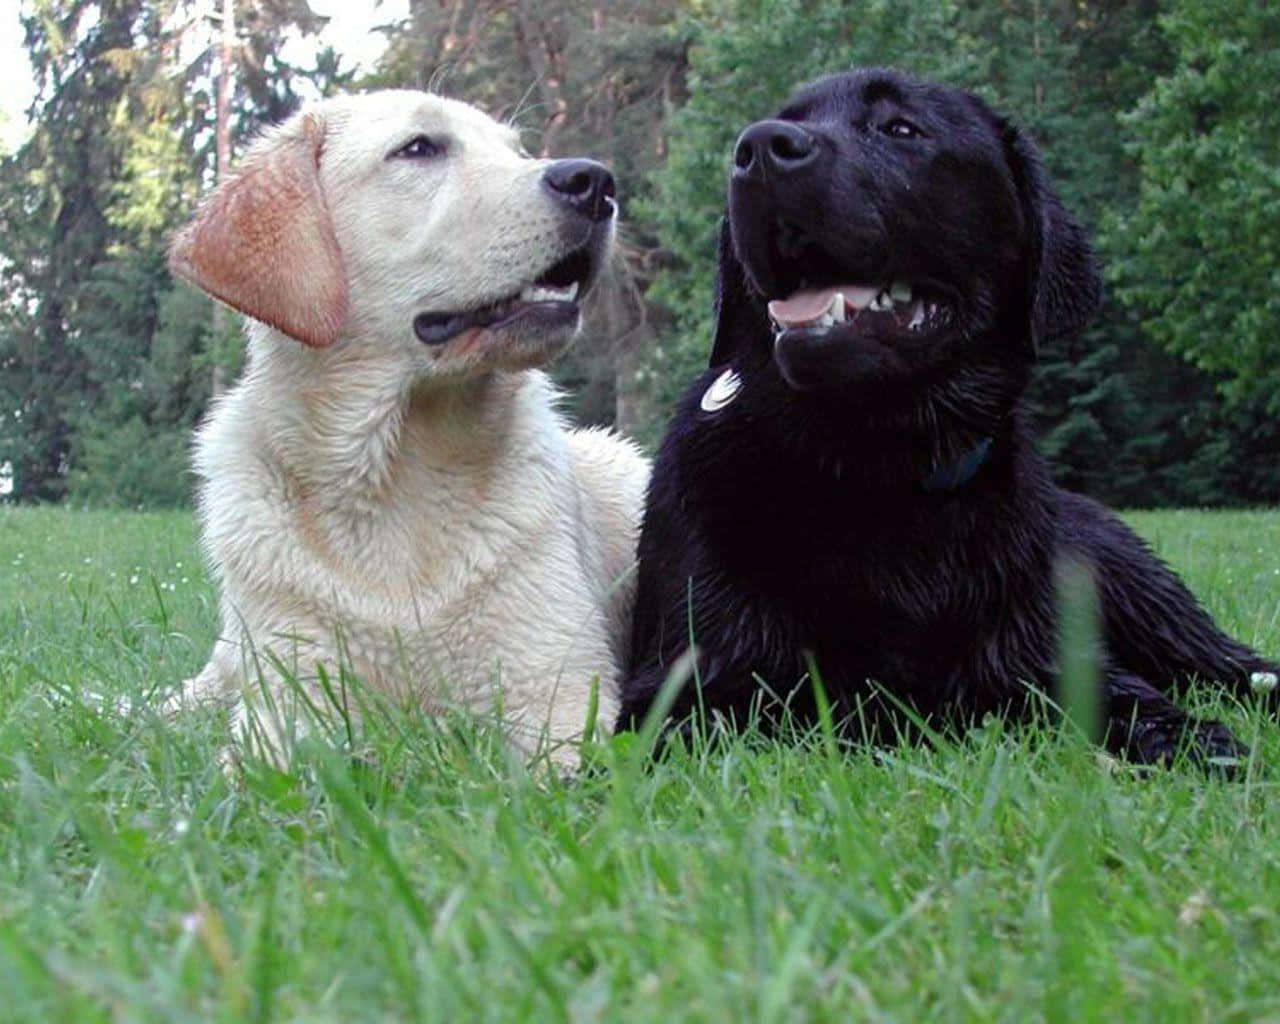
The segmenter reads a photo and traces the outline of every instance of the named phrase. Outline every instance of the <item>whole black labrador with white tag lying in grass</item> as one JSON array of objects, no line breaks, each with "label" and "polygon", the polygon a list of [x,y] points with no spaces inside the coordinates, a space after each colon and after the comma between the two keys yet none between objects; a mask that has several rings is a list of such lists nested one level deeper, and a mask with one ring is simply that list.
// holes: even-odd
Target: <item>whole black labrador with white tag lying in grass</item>
[{"label": "whole black labrador with white tag lying in grass", "polygon": [[[710,370],[681,399],[640,539],[620,727],[692,641],[673,716],[1019,713],[1059,672],[1055,573],[1092,570],[1106,742],[1138,762],[1243,754],[1166,695],[1276,666],[1224,635],[1102,506],[1053,485],[1023,410],[1038,342],[1101,298],[1036,150],[977,97],[823,78],[733,154]],[[877,728],[870,721],[870,728]]]}]

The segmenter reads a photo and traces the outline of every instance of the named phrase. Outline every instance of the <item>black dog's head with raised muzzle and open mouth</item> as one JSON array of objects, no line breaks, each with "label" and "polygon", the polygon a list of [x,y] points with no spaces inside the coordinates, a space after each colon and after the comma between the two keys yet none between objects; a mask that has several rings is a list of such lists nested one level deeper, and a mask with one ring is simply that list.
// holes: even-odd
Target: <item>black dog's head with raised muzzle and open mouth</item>
[{"label": "black dog's head with raised muzzle and open mouth", "polygon": [[737,140],[712,365],[769,348],[795,389],[893,403],[991,364],[1011,402],[1036,342],[1080,329],[1100,292],[1018,128],[966,92],[855,70]]}]

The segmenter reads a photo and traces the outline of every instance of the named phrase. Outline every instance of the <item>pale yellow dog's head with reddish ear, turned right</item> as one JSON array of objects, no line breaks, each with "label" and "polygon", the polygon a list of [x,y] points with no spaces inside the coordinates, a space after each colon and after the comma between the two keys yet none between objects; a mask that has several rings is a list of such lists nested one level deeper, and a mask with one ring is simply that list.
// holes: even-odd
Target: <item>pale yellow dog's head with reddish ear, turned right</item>
[{"label": "pale yellow dog's head with reddish ear, turned right", "polygon": [[613,178],[535,160],[472,106],[324,100],[261,138],[174,238],[170,266],[312,348],[398,348],[416,372],[547,362],[612,243]]}]

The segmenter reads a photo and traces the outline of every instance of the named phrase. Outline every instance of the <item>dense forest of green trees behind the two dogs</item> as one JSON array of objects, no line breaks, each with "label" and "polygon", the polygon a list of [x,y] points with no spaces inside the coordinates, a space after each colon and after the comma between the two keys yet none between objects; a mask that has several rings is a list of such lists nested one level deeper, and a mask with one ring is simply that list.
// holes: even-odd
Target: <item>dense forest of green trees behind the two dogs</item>
[{"label": "dense forest of green trees behind the two dogs", "polygon": [[[219,6],[221,0],[219,0]],[[0,155],[0,500],[182,506],[237,317],[169,276],[216,179],[210,0],[24,0],[33,131]],[[1280,500],[1280,5],[1257,0],[410,0],[349,67],[303,0],[234,0],[234,151],[310,96],[431,86],[535,152],[609,163],[616,287],[556,369],[584,422],[660,434],[705,362],[733,137],[856,64],[1025,124],[1107,266],[1033,410],[1059,481],[1112,503]]]}]

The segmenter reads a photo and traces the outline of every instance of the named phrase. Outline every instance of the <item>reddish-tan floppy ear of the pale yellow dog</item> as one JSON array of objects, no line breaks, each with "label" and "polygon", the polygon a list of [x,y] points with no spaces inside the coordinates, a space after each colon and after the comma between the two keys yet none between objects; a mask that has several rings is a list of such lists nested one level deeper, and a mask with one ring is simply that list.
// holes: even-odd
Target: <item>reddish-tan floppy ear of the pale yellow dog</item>
[{"label": "reddish-tan floppy ear of the pale yellow dog", "polygon": [[320,188],[324,125],[285,125],[174,236],[169,268],[255,320],[323,348],[347,320],[347,274]]}]

